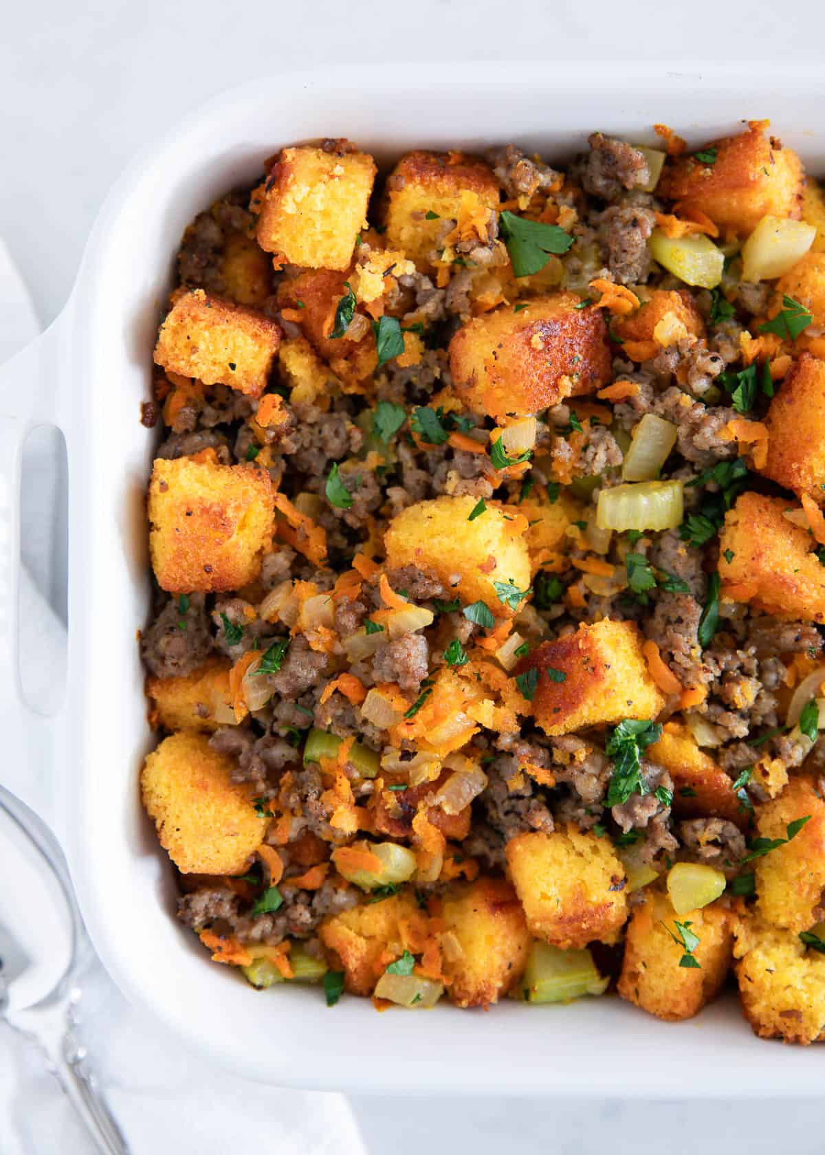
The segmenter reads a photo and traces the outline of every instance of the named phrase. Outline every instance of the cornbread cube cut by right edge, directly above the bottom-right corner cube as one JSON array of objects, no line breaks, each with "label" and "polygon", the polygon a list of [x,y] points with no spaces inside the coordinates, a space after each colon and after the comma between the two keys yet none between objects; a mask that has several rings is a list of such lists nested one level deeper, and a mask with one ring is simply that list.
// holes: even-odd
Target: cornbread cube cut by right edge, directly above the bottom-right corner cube
[{"label": "cornbread cube cut by right edge, directly above the bottom-right corner cube", "polygon": [[765,922],[807,931],[825,914],[825,802],[807,775],[791,777],[778,798],[756,806],[760,839],[785,839],[787,827],[808,821],[785,845],[753,860],[757,910]]}]

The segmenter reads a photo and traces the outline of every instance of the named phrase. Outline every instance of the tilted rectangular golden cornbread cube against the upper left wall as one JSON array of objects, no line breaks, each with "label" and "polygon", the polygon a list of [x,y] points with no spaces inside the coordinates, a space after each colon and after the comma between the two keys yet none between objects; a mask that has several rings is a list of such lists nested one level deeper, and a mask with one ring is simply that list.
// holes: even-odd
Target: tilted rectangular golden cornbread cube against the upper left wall
[{"label": "tilted rectangular golden cornbread cube against the upper left wall", "polygon": [[280,343],[281,329],[262,313],[202,289],[183,289],[157,334],[155,363],[259,397]]}]

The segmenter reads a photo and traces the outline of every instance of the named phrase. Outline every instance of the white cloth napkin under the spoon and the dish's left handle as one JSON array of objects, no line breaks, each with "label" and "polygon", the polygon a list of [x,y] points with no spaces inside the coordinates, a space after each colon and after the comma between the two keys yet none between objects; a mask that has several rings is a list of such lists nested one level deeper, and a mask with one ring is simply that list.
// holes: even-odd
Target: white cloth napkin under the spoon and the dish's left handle
[{"label": "white cloth napkin under the spoon and the dish's left handle", "polygon": [[[0,240],[0,350],[5,357],[34,335],[34,311],[25,296],[21,301],[24,293]],[[16,344],[6,323],[14,318],[20,335]],[[25,467],[31,468],[25,471],[24,516],[25,509],[53,509],[62,468],[54,438],[38,439],[27,456]],[[44,521],[53,519],[37,523]],[[28,634],[21,649],[32,660],[21,673],[29,700],[49,713],[60,701],[66,668],[61,591],[53,581],[54,573],[65,567],[62,535],[37,535],[27,529],[24,537],[21,609]],[[47,598],[57,603],[58,612]],[[8,884],[14,869],[5,865]],[[14,927],[7,930],[14,933]],[[96,959],[80,985],[77,1035],[132,1155],[200,1155],[229,1149],[254,1149],[265,1155],[364,1155],[343,1095],[277,1090],[224,1073],[131,1007]],[[89,1155],[91,1149],[36,1045],[0,1022],[2,1155]]]}]

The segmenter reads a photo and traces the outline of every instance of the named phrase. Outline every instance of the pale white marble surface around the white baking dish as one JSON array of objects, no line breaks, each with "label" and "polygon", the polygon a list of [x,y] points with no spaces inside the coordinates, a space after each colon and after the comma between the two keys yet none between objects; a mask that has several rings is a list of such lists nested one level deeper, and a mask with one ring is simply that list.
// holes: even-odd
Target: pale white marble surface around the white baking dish
[{"label": "pale white marble surface around the white baking dish", "polygon": [[[578,58],[590,61],[582,65],[586,84],[597,61],[616,52],[644,60],[787,60],[791,54],[817,60],[823,23],[815,3],[780,12],[775,3],[709,0],[659,14],[638,0],[587,6],[571,0],[415,0],[403,6],[305,0],[289,8],[282,0],[9,5],[0,36],[0,236],[47,323],[69,293],[106,188],[135,149],[168,120],[240,80],[330,60]],[[768,112],[770,94],[765,107],[743,110]],[[776,1063],[781,1059],[776,1049]],[[176,1133],[153,1128],[149,1100],[147,1125],[133,1140],[135,1155],[188,1155],[232,1140],[233,1119],[245,1112],[244,1087],[232,1085],[233,1105],[221,1112],[209,1104],[207,1111],[198,1095],[199,1078],[206,1075],[198,1064],[188,1070],[180,1111],[193,1125]],[[690,1074],[685,1070],[686,1085]],[[548,1071],[549,1087],[552,1079]],[[121,1090],[128,1096],[126,1083]],[[731,1071],[729,1086],[720,1090],[733,1097],[746,1087]],[[42,1094],[47,1096],[47,1085]],[[260,1088],[248,1089],[253,1101],[260,1110]],[[37,1146],[27,1149],[36,1155],[66,1149],[60,1123],[50,1130],[46,1100],[37,1102],[44,1126]],[[594,1094],[587,1102],[356,1098],[354,1106],[377,1155],[422,1148],[440,1155],[470,1143],[478,1155],[503,1149],[579,1155],[601,1148],[634,1155],[700,1148],[713,1155],[731,1146],[753,1155],[776,1149],[802,1155],[823,1148],[822,1109],[811,1101],[733,1102],[726,1095],[713,1103],[647,1104],[607,1102]],[[273,1096],[273,1117],[277,1111]],[[274,1133],[261,1124],[255,1137],[261,1150],[276,1149]],[[10,1149],[7,1140],[0,1132],[0,1152]]]}]

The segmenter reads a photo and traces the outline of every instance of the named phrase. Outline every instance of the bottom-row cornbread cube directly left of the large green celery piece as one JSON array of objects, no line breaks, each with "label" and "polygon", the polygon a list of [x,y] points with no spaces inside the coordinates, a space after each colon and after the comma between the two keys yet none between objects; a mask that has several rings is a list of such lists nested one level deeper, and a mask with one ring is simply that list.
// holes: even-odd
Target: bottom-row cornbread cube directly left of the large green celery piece
[{"label": "bottom-row cornbread cube directly left of the large green celery piece", "polygon": [[451,882],[441,918],[459,940],[461,956],[445,963],[451,1003],[488,1007],[521,978],[530,936],[518,895],[503,878]]}]

